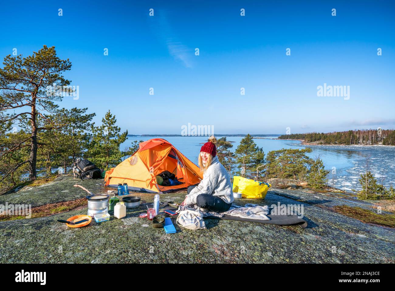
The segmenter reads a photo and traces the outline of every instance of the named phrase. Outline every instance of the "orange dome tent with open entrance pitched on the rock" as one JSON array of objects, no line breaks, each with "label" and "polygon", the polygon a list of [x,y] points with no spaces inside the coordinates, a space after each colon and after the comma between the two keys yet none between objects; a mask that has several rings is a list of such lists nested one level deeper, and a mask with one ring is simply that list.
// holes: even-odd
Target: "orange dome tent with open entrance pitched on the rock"
[{"label": "orange dome tent with open entrance pitched on the rock", "polygon": [[[175,174],[182,184],[158,185],[156,176],[166,170]],[[162,138],[141,142],[131,157],[108,170],[104,178],[106,186],[118,187],[118,183],[128,183],[129,190],[153,193],[186,188],[202,179],[198,166]]]}]

